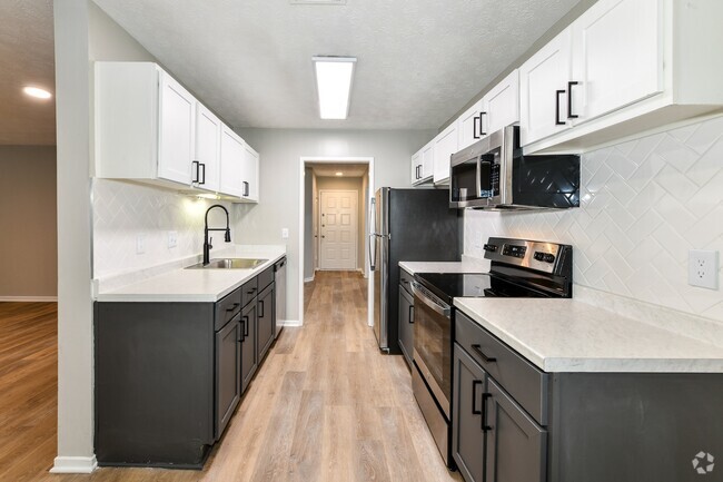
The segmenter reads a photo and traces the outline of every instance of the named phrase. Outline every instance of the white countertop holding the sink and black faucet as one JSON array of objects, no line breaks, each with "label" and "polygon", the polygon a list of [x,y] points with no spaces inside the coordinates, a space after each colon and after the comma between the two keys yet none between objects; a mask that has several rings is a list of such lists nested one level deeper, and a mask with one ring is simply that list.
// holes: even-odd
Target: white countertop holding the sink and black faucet
[{"label": "white countertop holding the sink and black faucet", "polygon": [[98,302],[217,302],[286,255],[284,248],[239,249],[218,257],[267,259],[254,269],[174,269],[96,295]]}]

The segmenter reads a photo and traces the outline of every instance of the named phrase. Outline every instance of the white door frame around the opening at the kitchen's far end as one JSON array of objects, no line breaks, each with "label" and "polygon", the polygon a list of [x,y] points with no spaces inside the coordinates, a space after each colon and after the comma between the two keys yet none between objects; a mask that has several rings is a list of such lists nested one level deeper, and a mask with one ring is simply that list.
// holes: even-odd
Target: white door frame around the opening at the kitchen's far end
[{"label": "white door frame around the opening at the kitchen's far end", "polygon": [[[372,198],[374,197],[375,187],[374,187],[374,157],[363,156],[363,157],[328,157],[328,156],[301,156],[299,158],[299,272],[298,272],[298,299],[299,299],[299,325],[304,325],[304,203],[305,203],[305,186],[304,186],[304,168],[306,163],[315,164],[367,164],[369,169],[367,170],[367,201],[365,206],[365,213],[369,213],[369,206],[372,204]],[[366,226],[367,230],[369,226]],[[365,266],[364,273],[367,277],[367,325],[374,325],[374,276],[369,276],[369,249],[368,249],[369,236],[368,233],[364,236],[364,258]]]}]

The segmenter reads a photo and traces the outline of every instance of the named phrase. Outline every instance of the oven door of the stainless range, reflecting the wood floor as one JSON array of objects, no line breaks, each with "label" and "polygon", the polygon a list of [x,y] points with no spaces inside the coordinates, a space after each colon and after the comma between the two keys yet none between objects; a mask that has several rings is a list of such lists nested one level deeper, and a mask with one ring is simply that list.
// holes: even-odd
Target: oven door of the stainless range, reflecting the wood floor
[{"label": "oven door of the stainless range, reflecting the wood floor", "polygon": [[452,392],[452,308],[418,283],[414,292],[414,361],[449,420]]}]

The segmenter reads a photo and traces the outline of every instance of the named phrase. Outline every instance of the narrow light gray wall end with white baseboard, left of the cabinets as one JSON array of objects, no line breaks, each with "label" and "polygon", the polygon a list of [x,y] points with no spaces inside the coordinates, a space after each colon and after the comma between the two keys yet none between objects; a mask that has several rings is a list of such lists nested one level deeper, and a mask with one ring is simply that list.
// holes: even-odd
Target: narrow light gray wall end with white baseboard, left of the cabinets
[{"label": "narrow light gray wall end with white baseboard, left of the cabinets", "polygon": [[58,145],[58,456],[91,472],[93,370],[88,0],[53,2]]}]

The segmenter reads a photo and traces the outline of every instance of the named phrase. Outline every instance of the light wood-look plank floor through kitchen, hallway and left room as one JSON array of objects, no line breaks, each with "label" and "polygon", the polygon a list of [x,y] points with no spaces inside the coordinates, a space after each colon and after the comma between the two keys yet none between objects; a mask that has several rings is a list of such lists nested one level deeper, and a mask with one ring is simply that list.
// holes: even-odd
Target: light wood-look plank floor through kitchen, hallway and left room
[{"label": "light wood-look plank floor through kitchen, hallway and left room", "polygon": [[[2,364],[3,390],[11,381],[27,384],[23,393],[34,404],[16,406],[20,394],[12,406],[4,396],[0,402],[0,420],[18,417],[11,433],[3,427],[0,481],[462,481],[442,462],[403,357],[383,355],[376,346],[366,322],[366,283],[358,273],[317,272],[306,285],[304,327],[284,329],[202,471],[103,468],[90,475],[48,474],[56,443],[56,354],[48,348],[28,355],[27,364],[52,357],[36,368],[43,372],[38,380],[12,377]],[[52,423],[40,422],[36,411],[52,413]],[[19,443],[16,435],[31,421],[43,425],[36,431],[46,430],[46,437]]]}]

